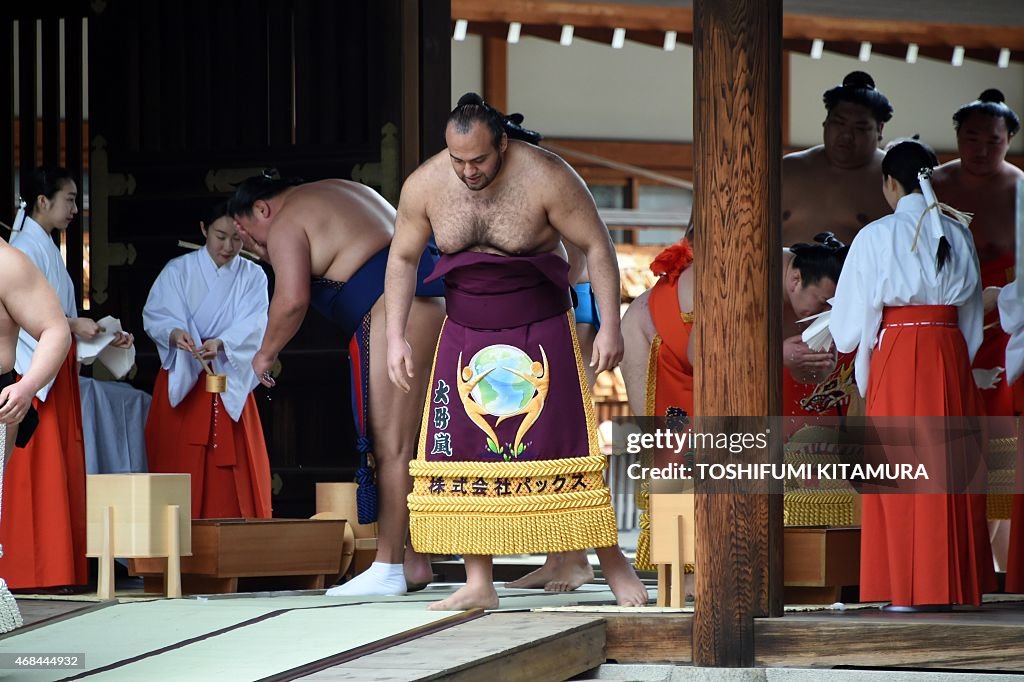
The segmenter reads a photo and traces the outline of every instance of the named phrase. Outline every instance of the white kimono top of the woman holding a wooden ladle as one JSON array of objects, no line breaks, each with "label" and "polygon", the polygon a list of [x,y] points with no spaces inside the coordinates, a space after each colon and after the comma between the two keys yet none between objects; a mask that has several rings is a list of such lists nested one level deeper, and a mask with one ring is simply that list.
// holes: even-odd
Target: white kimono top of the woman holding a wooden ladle
[{"label": "white kimono top of the woman holding a wooden ladle", "polygon": [[186,350],[170,345],[171,331],[183,329],[197,344],[220,339],[213,371],[227,376],[221,393],[236,422],[259,380],[252,361],[266,331],[267,280],[259,265],[236,256],[217,267],[205,248],[178,256],[164,267],[142,309],[142,326],[157,344],[167,370],[167,391],[177,407],[196,385],[203,366]]}]

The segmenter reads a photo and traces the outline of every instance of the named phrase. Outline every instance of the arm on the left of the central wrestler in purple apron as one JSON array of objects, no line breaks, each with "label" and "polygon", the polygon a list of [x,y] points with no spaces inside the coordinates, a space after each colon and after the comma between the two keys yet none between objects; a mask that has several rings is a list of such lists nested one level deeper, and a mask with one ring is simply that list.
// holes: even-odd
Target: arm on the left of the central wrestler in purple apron
[{"label": "arm on the left of the central wrestler in purple apron", "polygon": [[394,237],[384,274],[384,316],[387,335],[387,371],[391,382],[409,391],[413,376],[413,350],[406,339],[409,310],[416,294],[416,272],[420,257],[430,239],[427,217],[427,186],[425,172],[414,172],[401,188],[398,212],[394,221]]}]

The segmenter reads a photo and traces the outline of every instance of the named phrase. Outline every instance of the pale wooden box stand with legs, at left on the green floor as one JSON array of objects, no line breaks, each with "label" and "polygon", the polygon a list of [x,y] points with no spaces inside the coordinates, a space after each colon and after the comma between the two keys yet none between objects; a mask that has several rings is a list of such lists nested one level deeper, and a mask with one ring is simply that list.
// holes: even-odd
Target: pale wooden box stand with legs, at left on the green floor
[{"label": "pale wooden box stand with legs, at left on the green floor", "polygon": [[165,593],[180,597],[181,557],[191,555],[188,474],[90,474],[85,480],[86,556],[99,557],[99,596],[114,598],[114,557],[166,557]]}]

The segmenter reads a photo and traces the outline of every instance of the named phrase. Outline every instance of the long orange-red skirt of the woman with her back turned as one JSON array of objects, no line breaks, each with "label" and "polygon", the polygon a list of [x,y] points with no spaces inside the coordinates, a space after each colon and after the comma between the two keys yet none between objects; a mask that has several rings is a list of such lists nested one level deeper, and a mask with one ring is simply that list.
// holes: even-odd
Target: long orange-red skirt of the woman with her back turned
[{"label": "long orange-red skirt of the woman with her back turned", "polygon": [[[886,308],[868,417],[982,414],[953,306]],[[865,495],[860,598],[895,605],[981,603],[995,589],[984,495]]]}]

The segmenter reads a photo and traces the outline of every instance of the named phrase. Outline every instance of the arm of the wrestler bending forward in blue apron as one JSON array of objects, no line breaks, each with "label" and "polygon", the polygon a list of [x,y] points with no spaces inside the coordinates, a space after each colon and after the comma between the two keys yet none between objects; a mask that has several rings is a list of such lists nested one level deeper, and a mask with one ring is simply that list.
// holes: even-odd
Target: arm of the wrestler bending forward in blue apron
[{"label": "arm of the wrestler bending forward in blue apron", "polygon": [[253,369],[261,380],[299,331],[309,307],[309,239],[300,225],[286,223],[270,230],[267,251],[273,265],[273,297],[263,343],[253,358]]}]

